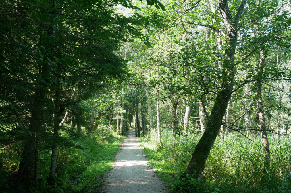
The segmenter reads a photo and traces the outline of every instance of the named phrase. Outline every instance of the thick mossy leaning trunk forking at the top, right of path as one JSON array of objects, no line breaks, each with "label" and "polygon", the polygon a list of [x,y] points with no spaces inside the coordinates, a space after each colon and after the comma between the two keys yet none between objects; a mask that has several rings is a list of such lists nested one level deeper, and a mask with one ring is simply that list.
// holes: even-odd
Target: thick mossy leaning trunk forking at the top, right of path
[{"label": "thick mossy leaning trunk forking at the top, right of path", "polygon": [[237,25],[245,4],[246,0],[243,0],[239,6],[236,17],[233,20],[227,0],[219,0],[222,20],[227,31],[226,48],[221,67],[221,72],[223,72],[222,84],[221,89],[218,91],[215,98],[209,120],[206,121],[205,132],[197,143],[194,152],[192,153],[190,163],[186,169],[186,173],[193,175],[193,177],[198,180],[201,178],[208,155],[218,135],[221,121],[226,112],[228,101],[233,91],[234,56],[237,45]]}]

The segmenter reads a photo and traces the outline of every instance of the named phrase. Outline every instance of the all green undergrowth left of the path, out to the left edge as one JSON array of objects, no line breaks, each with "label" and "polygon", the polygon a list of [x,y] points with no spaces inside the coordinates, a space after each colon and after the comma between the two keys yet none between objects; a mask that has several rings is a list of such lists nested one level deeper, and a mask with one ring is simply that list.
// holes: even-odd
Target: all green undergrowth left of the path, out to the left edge
[{"label": "all green undergrowth left of the path, out to the left edge", "polygon": [[[112,169],[111,164],[115,153],[124,138],[124,135],[119,135],[113,128],[100,125],[100,130],[95,133],[74,139],[72,143],[75,147],[59,150],[55,185],[47,185],[44,179],[39,182],[38,188],[30,187],[26,190],[20,189],[18,192],[92,192],[97,190],[102,184],[102,175]],[[43,155],[42,159],[49,160],[49,154]],[[5,163],[5,166],[8,165]],[[44,167],[47,163],[44,162],[41,165],[41,170],[45,171]],[[14,167],[13,170],[17,170],[16,164]],[[3,173],[5,170],[7,168],[2,168],[0,188],[2,192],[11,192],[13,189],[9,187],[14,187],[13,182],[3,177],[10,178],[13,171],[8,169],[8,173],[5,174]]]}]

